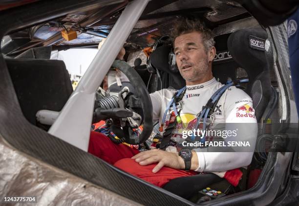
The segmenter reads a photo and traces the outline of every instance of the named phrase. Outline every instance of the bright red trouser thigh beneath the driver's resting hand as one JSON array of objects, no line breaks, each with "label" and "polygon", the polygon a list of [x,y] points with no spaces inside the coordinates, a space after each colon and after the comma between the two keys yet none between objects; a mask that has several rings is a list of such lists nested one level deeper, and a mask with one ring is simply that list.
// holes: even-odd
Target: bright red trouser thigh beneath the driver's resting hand
[{"label": "bright red trouser thigh beneath the driver's resting hand", "polygon": [[153,173],[152,169],[157,163],[149,164],[146,166],[140,165],[134,159],[126,158],[115,162],[114,166],[139,177],[149,183],[152,183],[158,187],[163,187],[166,183],[172,179],[179,177],[187,177],[198,174],[194,171],[185,171],[180,169],[172,169],[170,167],[163,167],[159,172]]}]

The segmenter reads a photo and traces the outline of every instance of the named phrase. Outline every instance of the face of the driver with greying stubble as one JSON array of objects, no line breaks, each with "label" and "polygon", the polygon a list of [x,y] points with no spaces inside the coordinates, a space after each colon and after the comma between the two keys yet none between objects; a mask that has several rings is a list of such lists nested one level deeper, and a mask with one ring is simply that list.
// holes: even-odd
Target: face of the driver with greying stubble
[{"label": "face of the driver with greying stubble", "polygon": [[197,84],[211,73],[209,57],[202,44],[201,33],[194,31],[182,34],[174,41],[177,67],[186,83]]}]

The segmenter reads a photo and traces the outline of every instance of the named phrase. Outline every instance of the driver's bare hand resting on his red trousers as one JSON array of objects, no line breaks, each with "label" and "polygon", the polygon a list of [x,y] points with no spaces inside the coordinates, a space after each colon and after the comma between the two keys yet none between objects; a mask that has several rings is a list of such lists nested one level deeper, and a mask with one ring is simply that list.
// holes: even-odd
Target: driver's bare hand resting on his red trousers
[{"label": "driver's bare hand resting on his red trousers", "polygon": [[163,166],[171,167],[174,169],[185,169],[184,160],[178,156],[178,153],[166,152],[159,149],[151,149],[141,152],[132,157],[140,165],[148,165],[151,163],[159,162],[152,172],[158,172]]}]

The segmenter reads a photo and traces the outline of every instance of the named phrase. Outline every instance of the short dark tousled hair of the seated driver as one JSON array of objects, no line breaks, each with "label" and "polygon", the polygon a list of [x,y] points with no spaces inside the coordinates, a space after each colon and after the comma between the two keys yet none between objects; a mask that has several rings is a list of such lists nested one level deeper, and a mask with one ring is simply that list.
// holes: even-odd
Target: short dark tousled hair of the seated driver
[{"label": "short dark tousled hair of the seated driver", "polygon": [[173,40],[175,40],[175,38],[178,36],[191,33],[193,31],[198,31],[202,34],[202,43],[206,52],[208,52],[209,48],[215,45],[213,32],[199,19],[181,17],[180,19],[176,20],[171,36]]}]

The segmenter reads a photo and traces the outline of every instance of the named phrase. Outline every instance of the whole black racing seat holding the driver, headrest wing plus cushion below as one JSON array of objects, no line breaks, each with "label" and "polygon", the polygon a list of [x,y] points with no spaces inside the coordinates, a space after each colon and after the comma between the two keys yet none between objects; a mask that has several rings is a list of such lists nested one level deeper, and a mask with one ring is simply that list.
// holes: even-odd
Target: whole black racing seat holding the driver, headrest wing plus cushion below
[{"label": "whole black racing seat holding the driver, headrest wing plus cushion below", "polygon": [[[251,44],[256,42],[251,41],[252,39],[264,42],[264,44],[260,43],[258,47],[253,46]],[[249,84],[246,87],[246,92],[250,93],[253,99],[257,121],[259,121],[262,114],[264,114],[273,91],[271,90],[269,74],[269,69],[273,67],[273,53],[271,46],[267,45],[266,39],[267,33],[263,29],[242,29],[232,33],[227,42],[228,50],[235,60],[233,64],[240,65],[248,74]],[[231,70],[230,75],[233,75],[235,68],[228,69]],[[223,79],[222,81],[226,80]],[[198,190],[206,186],[215,190],[221,190],[219,187],[225,188],[225,185],[229,185],[226,180],[220,178],[216,179],[215,176],[210,176],[211,174],[208,179],[204,179],[202,174],[192,177],[176,178],[167,183],[164,188],[181,197],[190,198],[196,194]],[[245,171],[243,172],[242,179],[246,181]],[[217,183],[219,180],[222,180],[222,183]],[[242,182],[242,184],[244,184],[244,182]],[[182,188],[187,188],[186,185],[188,185],[189,189],[182,190]],[[215,185],[219,187],[215,188]],[[201,188],[199,188],[199,186],[201,186]]]}]

